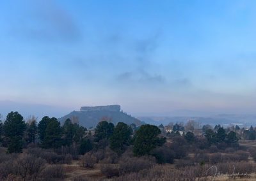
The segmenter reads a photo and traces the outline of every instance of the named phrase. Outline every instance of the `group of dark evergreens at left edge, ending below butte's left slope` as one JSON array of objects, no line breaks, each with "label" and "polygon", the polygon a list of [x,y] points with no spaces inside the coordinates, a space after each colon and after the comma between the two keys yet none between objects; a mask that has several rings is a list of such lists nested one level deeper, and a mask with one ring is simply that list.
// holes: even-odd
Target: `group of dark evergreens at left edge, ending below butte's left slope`
[{"label": "group of dark evergreens at left edge, ending below butte's left slope", "polygon": [[47,116],[38,123],[35,117],[25,122],[18,112],[8,113],[0,129],[1,143],[7,147],[8,153],[22,152],[22,148],[30,143],[38,143],[42,148],[60,148],[81,143],[86,131],[86,128],[73,124],[70,119],[63,126],[56,118]]}]

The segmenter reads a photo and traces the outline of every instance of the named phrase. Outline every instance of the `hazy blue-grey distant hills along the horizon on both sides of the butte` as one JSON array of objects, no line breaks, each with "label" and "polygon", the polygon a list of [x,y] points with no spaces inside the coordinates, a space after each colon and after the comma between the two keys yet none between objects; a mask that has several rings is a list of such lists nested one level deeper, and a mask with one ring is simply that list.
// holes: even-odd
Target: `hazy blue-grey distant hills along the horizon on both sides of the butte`
[{"label": "hazy blue-grey distant hills along the horizon on both sides of the butte", "polygon": [[[92,106],[92,105],[81,105],[81,106]],[[35,105],[26,103],[17,103],[13,101],[0,101],[0,113],[5,119],[6,115],[11,111],[19,112],[24,119],[28,119],[29,116],[35,115],[38,121],[45,115],[49,117],[60,118],[68,113],[79,110],[77,108],[67,108],[61,106],[50,106],[50,105]],[[126,112],[122,107],[121,109]],[[170,112],[163,113],[132,113],[127,112],[132,117],[136,117],[141,121],[149,124],[168,124],[169,122],[186,122],[189,119],[198,120],[204,124],[230,124],[230,123],[247,123],[253,124],[256,120],[256,115],[252,114],[235,114],[235,113],[213,113],[213,112],[198,112],[193,110],[172,110]]]}]

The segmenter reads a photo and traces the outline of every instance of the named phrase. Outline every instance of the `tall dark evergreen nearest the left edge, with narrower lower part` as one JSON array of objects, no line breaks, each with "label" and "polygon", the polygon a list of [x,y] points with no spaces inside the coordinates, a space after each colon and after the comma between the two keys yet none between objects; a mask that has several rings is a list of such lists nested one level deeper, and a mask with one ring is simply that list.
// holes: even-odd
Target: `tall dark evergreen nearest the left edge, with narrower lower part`
[{"label": "tall dark evergreen nearest the left edge, with narrower lower part", "polygon": [[8,113],[3,125],[4,136],[8,138],[8,153],[22,152],[22,137],[26,129],[26,123],[18,112]]}]

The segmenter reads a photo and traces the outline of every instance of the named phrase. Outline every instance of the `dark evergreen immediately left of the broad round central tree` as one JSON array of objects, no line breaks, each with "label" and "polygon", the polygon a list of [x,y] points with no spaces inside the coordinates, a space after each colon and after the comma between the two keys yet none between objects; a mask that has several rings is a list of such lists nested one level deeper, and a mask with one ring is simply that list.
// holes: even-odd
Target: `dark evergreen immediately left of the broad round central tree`
[{"label": "dark evergreen immediately left of the broad round central tree", "polygon": [[124,152],[124,146],[129,145],[132,129],[124,122],[118,122],[110,137],[110,148],[118,154]]}]

